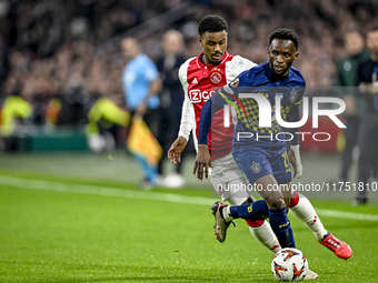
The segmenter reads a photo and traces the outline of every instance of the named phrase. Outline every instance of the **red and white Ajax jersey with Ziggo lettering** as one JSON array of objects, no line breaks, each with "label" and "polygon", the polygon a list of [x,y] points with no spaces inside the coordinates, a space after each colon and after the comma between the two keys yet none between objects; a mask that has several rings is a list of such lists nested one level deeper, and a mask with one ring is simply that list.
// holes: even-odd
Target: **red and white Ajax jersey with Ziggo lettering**
[{"label": "red and white Ajax jersey with Ziggo lettering", "polygon": [[[190,131],[192,131],[196,150],[198,149],[199,120],[205,102],[218,89],[230,83],[239,73],[256,65],[248,59],[231,55],[228,52],[225,53],[218,65],[205,64],[200,60],[202,54],[203,52],[197,58],[188,59],[179,70],[179,78],[185,91],[179,135],[189,140]],[[233,131],[233,125],[223,127],[223,110],[216,112],[209,137],[209,150],[212,160],[231,152]]]}]

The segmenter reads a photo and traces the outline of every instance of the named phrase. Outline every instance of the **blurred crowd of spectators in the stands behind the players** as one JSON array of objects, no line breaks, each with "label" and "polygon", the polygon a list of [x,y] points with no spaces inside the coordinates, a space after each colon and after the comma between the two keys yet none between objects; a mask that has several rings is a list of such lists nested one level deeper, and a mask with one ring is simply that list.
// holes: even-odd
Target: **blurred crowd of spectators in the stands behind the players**
[{"label": "blurred crowd of spectators in the stands behind the players", "polygon": [[162,34],[183,34],[182,54],[201,52],[197,24],[209,13],[229,23],[228,51],[267,60],[271,31],[287,27],[300,38],[295,67],[309,87],[336,84],[344,34],[378,14],[377,0],[0,0],[0,103],[10,94],[29,101],[34,124],[82,127],[97,98],[127,110],[121,40],[137,38],[157,60]]}]

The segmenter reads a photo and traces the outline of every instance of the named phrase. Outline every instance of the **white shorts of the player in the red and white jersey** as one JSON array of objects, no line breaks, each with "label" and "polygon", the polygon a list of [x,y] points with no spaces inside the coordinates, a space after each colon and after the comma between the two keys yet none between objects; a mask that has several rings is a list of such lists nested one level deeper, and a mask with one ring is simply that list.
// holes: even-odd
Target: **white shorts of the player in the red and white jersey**
[{"label": "white shorts of the player in the red and white jersey", "polygon": [[222,201],[228,201],[232,205],[240,205],[248,198],[255,200],[248,191],[248,180],[235,162],[232,154],[211,161],[210,182]]}]

